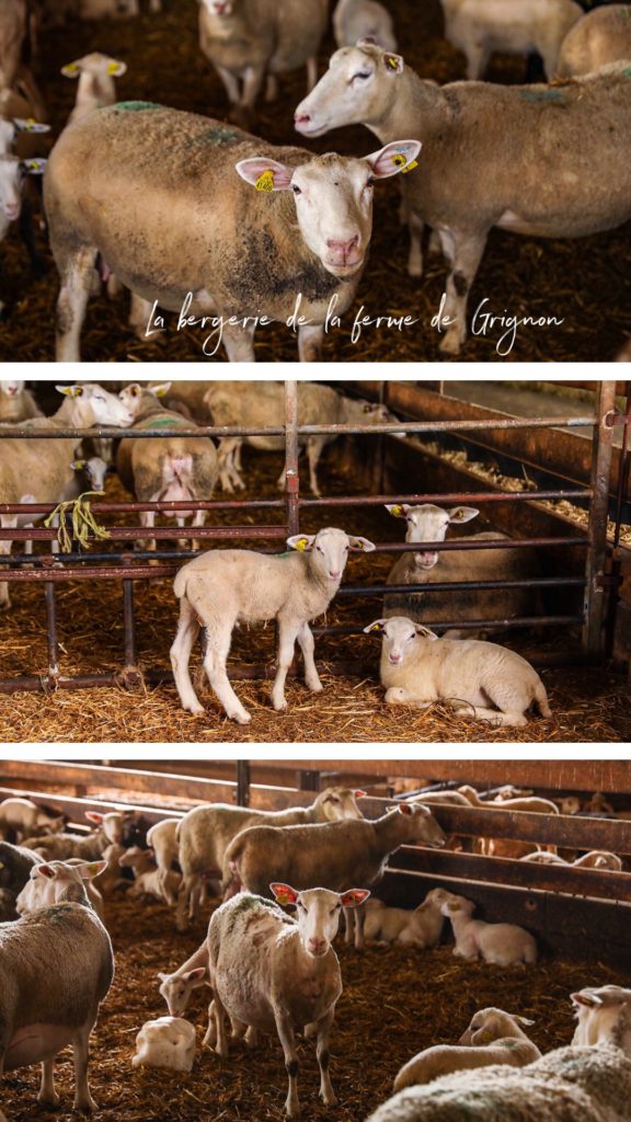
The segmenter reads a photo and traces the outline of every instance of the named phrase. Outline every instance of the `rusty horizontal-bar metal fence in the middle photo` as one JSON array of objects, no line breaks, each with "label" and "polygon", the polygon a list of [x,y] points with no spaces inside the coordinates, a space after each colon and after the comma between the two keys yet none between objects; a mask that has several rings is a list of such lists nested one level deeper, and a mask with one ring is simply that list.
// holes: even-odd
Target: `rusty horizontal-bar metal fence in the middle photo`
[{"label": "rusty horizontal-bar metal fence in the middle photo", "polygon": [[[476,504],[496,503],[532,503],[538,499],[587,499],[589,503],[589,524],[587,532],[579,532],[573,535],[539,536],[506,540],[468,540],[466,537],[456,539],[448,542],[414,543],[414,551],[428,549],[433,551],[450,550],[490,550],[490,549],[525,549],[543,550],[551,546],[584,546],[585,548],[585,574],[583,577],[554,577],[554,578],[531,578],[523,580],[487,580],[487,581],[460,581],[460,582],[432,582],[418,586],[386,586],[374,585],[347,585],[344,586],[339,596],[342,597],[366,597],[383,595],[388,592],[405,591],[440,591],[454,594],[460,589],[499,589],[502,588],[561,588],[582,587],[584,589],[583,608],[579,613],[565,615],[537,615],[520,617],[506,620],[504,618],[490,618],[482,620],[463,622],[459,619],[432,622],[427,620],[429,627],[439,626],[441,628],[479,628],[481,626],[504,628],[507,626],[537,626],[560,627],[580,624],[583,628],[583,651],[589,659],[598,659],[603,655],[606,634],[603,628],[605,619],[606,591],[616,588],[620,580],[620,522],[622,516],[623,496],[629,480],[629,452],[627,447],[628,426],[631,420],[629,411],[629,397],[625,414],[618,414],[615,411],[615,381],[603,381],[596,399],[594,414],[578,417],[515,417],[510,420],[490,421],[409,421],[404,419],[404,429],[409,435],[429,433],[468,433],[476,430],[518,430],[518,429],[567,429],[586,426],[593,427],[593,456],[591,481],[587,487],[559,489],[546,489],[533,491],[502,491],[502,493],[472,493],[451,491],[449,494],[414,493],[408,495],[372,495],[372,496],[344,496],[323,498],[303,498],[300,494],[299,475],[299,441],[312,434],[331,435],[383,435],[401,433],[401,423],[387,423],[376,425],[359,424],[337,424],[337,425],[300,425],[298,423],[298,383],[295,380],[285,381],[285,424],[268,426],[264,429],[252,429],[244,426],[195,426],[185,427],[177,425],[176,429],[152,430],[121,430],[121,429],[74,429],[74,430],[43,430],[34,424],[28,427],[7,427],[2,430],[4,439],[28,440],[28,439],[64,439],[71,438],[124,438],[159,440],[167,436],[211,436],[221,439],[225,436],[248,436],[265,435],[285,438],[285,490],[284,496],[278,499],[260,500],[236,500],[236,499],[212,499],[204,502],[180,502],[180,503],[94,503],[92,511],[100,518],[103,515],[112,514],[137,514],[141,512],[155,512],[156,514],[174,515],[180,511],[257,511],[264,515],[266,512],[278,512],[282,515],[282,523],[258,524],[240,526],[195,526],[194,536],[203,543],[230,541],[247,542],[255,541],[272,543],[266,552],[275,552],[277,543],[285,537],[300,533],[303,517],[309,516],[313,508],[330,507],[335,511],[348,507],[371,507],[385,503],[461,503],[475,502]],[[607,513],[610,502],[610,488],[612,487],[612,448],[615,425],[624,422],[623,451],[620,458],[620,478],[618,481],[616,504],[615,504],[615,541],[613,544],[613,571],[605,572],[607,558]],[[13,514],[36,514],[45,515],[53,509],[52,504],[28,504],[13,505],[0,504],[0,515]],[[140,681],[140,671],[137,665],[136,638],[135,638],[135,608],[134,608],[134,581],[156,578],[170,578],[176,572],[180,564],[194,557],[191,550],[138,550],[129,551],[126,543],[138,542],[144,539],[156,539],[157,541],[168,541],[174,537],[189,536],[185,531],[164,526],[116,526],[108,523],[111,540],[121,543],[113,550],[94,550],[86,553],[56,553],[56,554],[13,554],[0,555],[0,579],[9,582],[40,582],[44,586],[46,604],[46,637],[48,651],[48,672],[46,675],[31,674],[20,675],[0,680],[0,692],[16,692],[19,690],[42,690],[51,688],[82,688],[92,686],[110,686],[122,681],[127,686],[134,686]],[[12,540],[26,542],[53,541],[56,537],[55,530],[36,528],[0,528],[0,540]],[[397,554],[409,552],[408,543],[377,543],[377,551]],[[147,564],[148,560],[153,563]],[[33,565],[24,568],[25,564]],[[4,571],[2,571],[4,570]],[[56,610],[56,586],[60,581],[102,581],[116,580],[122,585],[122,618],[124,618],[124,664],[119,673],[100,673],[67,677],[60,669],[60,645],[57,641],[57,610]],[[615,600],[615,594],[611,596],[611,604]],[[610,610],[609,623],[611,629],[613,607]],[[424,622],[424,620],[423,620]],[[360,634],[362,628],[357,627],[320,627],[314,628],[316,634]],[[353,662],[333,663],[330,669],[333,672],[353,672]],[[266,670],[262,666],[232,666],[232,677],[259,677],[265,675]],[[171,680],[171,672],[161,669],[149,669],[144,672],[148,681],[161,682]]]}]

